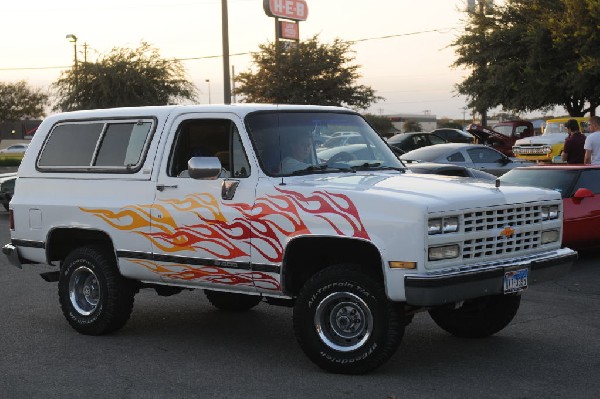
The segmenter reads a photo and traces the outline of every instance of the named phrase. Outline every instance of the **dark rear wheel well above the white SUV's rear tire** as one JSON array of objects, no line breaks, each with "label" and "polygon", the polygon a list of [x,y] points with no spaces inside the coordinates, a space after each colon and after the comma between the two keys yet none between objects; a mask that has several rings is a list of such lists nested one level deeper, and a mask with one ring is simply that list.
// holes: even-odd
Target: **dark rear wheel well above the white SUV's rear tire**
[{"label": "dark rear wheel well above the white SUV's rear tire", "polygon": [[73,249],[84,245],[103,245],[114,250],[110,237],[103,231],[58,228],[48,235],[46,257],[48,262],[62,261]]}]

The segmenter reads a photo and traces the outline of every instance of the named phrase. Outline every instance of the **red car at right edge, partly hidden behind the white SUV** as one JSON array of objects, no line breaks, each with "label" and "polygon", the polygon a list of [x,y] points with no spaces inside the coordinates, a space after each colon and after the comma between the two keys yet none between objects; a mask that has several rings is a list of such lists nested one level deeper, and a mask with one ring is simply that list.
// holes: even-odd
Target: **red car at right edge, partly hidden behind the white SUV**
[{"label": "red car at right edge, partly hidden behind the white SUV", "polygon": [[537,165],[516,168],[501,184],[551,188],[563,198],[563,245],[600,248],[600,165]]}]

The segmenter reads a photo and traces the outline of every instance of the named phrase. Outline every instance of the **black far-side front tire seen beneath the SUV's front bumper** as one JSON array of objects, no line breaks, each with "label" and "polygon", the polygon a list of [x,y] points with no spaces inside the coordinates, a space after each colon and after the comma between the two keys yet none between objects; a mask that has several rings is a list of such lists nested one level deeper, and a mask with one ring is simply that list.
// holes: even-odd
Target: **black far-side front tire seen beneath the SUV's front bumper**
[{"label": "black far-side front tire seen beneath the SUV's front bumper", "polygon": [[501,331],[517,314],[521,295],[494,295],[470,299],[458,309],[443,306],[429,310],[433,321],[452,335],[484,338]]}]

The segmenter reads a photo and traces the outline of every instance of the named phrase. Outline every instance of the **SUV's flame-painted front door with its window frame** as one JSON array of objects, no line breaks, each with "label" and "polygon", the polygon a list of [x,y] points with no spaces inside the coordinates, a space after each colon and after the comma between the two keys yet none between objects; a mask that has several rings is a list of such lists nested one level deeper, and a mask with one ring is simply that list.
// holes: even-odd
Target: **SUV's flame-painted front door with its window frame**
[{"label": "SUV's flame-painted front door with its window frame", "polygon": [[[256,171],[252,171],[231,114],[187,114],[164,138],[146,265],[164,282],[190,287],[254,291],[250,268],[250,213]],[[217,157],[218,178],[189,177],[191,157]],[[254,173],[253,173],[254,172]]]}]

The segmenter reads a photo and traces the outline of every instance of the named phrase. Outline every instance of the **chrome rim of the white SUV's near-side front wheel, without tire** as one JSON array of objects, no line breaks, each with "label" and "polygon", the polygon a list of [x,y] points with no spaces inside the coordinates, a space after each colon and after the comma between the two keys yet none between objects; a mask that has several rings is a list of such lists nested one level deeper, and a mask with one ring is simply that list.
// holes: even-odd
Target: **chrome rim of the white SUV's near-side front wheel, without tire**
[{"label": "chrome rim of the white SUV's near-side front wheel, without tire", "polygon": [[334,292],[323,298],[316,308],[314,323],[323,343],[340,352],[360,348],[373,332],[371,310],[350,292]]}]

